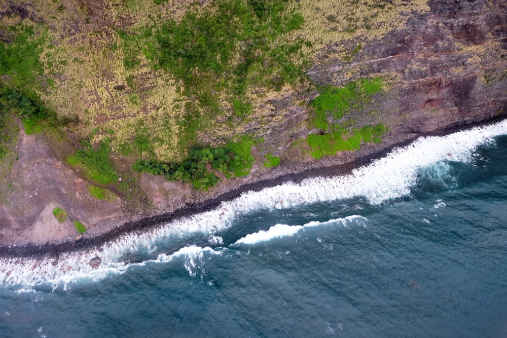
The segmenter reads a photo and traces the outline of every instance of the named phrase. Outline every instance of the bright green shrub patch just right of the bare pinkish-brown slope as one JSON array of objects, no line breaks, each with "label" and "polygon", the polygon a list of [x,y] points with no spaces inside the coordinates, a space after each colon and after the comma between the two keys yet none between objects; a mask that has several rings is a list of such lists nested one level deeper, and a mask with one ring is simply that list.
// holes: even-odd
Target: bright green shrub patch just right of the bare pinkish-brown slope
[{"label": "bright green shrub patch just right of the bare pinkish-brown slope", "polygon": [[110,158],[110,142],[109,138],[101,140],[95,150],[88,140],[82,140],[83,148],[79,149],[76,155],[67,157],[67,163],[83,166],[88,178],[99,184],[113,183],[118,179],[118,175]]}]

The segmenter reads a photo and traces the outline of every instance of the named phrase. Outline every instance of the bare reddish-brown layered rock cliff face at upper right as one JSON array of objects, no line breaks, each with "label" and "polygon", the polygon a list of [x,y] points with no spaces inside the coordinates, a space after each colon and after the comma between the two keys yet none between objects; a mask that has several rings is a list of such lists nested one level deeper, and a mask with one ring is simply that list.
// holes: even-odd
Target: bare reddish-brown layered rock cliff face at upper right
[{"label": "bare reddish-brown layered rock cliff face at upper right", "polygon": [[351,63],[323,58],[313,81],[340,85],[347,73],[388,74],[381,99],[393,133],[427,133],[507,113],[507,7],[504,2],[429,1],[403,30],[364,44]]}]

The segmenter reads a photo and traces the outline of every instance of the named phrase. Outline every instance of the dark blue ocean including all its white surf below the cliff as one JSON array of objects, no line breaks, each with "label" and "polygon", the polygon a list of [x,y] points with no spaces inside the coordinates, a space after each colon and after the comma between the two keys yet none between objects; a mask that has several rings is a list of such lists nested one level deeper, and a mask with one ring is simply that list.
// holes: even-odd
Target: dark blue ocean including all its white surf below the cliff
[{"label": "dark blue ocean including all its white surf below the cliff", "polygon": [[507,122],[57,261],[0,258],[0,336],[507,337]]}]

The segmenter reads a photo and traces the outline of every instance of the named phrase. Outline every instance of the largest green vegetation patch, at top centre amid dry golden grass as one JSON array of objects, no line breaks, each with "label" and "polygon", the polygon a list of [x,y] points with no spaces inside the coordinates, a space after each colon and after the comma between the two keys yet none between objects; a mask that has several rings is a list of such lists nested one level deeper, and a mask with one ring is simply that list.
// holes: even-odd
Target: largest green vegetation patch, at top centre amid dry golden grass
[{"label": "largest green vegetation patch, at top centre amid dry golden grass", "polygon": [[[234,126],[248,119],[252,93],[303,81],[305,42],[279,39],[304,23],[289,5],[287,0],[219,0],[189,6],[179,20],[117,31],[125,70],[142,68],[141,60],[148,60],[152,71],[162,69],[175,81],[179,97],[174,102],[184,110],[175,119],[181,151],[198,146],[198,132],[210,130],[217,120]],[[136,88],[132,75],[125,81],[128,89]]]}]

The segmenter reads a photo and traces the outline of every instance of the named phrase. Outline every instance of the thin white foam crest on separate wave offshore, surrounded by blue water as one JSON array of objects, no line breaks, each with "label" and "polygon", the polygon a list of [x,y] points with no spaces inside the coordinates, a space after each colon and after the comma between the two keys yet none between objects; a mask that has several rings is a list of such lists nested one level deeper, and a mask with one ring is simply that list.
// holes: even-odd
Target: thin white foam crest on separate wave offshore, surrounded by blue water
[{"label": "thin white foam crest on separate wave offshore, surrounded by blue water", "polygon": [[304,231],[305,229],[323,226],[326,224],[340,223],[340,224],[342,224],[342,226],[347,227],[349,222],[357,221],[357,220],[366,221],[367,219],[366,219],[366,217],[363,217],[363,216],[352,215],[352,216],[347,216],[345,218],[330,219],[325,222],[312,221],[312,222],[304,224],[303,226],[288,226],[287,224],[275,224],[273,227],[269,228],[267,231],[261,230],[259,232],[253,233],[253,234],[248,234],[245,237],[242,237],[239,240],[237,240],[234,244],[231,244],[231,246],[235,246],[238,244],[253,245],[253,244],[258,244],[261,242],[268,242],[268,241],[273,240],[275,238],[294,236],[297,233],[299,233],[300,231]]}]

